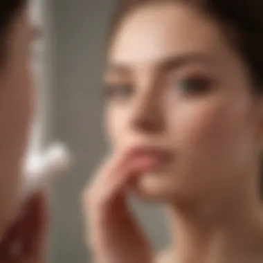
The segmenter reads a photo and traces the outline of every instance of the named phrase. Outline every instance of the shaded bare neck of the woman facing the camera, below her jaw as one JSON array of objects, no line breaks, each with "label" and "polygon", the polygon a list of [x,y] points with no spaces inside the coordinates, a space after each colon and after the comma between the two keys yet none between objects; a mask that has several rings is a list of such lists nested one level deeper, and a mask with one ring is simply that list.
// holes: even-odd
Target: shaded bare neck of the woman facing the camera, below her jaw
[{"label": "shaded bare neck of the woman facing the camera, below her jaw", "polygon": [[229,198],[224,193],[223,203],[209,199],[170,205],[168,215],[176,243],[174,261],[253,263],[259,257],[262,260],[262,207],[256,194],[246,193],[231,192]]}]

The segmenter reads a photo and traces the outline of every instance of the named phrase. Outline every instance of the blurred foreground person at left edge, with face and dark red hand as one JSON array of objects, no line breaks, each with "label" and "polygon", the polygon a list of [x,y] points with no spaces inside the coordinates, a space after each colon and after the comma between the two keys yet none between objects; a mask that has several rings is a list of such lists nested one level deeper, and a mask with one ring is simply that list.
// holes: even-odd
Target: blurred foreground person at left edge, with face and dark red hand
[{"label": "blurred foreground person at left edge, with face and dark red hand", "polygon": [[33,28],[27,5],[26,0],[0,1],[0,262],[3,263],[44,260],[44,195],[35,194],[23,208],[19,202],[21,161],[28,145],[34,105],[30,73]]}]

